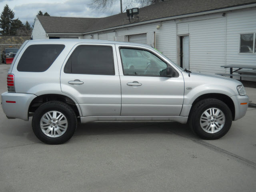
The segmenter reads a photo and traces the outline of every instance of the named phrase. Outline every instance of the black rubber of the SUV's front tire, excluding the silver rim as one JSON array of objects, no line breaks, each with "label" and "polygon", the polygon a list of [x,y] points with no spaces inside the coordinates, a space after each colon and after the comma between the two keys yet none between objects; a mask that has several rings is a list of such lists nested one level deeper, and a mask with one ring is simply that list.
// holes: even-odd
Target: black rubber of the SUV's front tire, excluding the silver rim
[{"label": "black rubber of the SUV's front tire, excluding the silver rim", "polygon": [[[196,134],[198,134],[198,136],[200,136],[203,139],[214,140],[221,138],[228,132],[232,124],[232,113],[224,102],[217,99],[206,99],[200,102],[195,107],[195,114],[192,117],[192,129]],[[207,133],[200,126],[200,118],[203,112],[209,108],[218,108],[225,115],[225,124],[222,127],[222,129],[216,133]]]}]

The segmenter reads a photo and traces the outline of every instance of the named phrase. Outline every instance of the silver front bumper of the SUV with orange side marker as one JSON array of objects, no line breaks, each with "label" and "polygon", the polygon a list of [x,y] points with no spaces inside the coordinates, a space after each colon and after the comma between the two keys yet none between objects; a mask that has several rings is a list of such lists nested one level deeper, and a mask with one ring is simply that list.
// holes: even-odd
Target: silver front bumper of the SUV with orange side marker
[{"label": "silver front bumper of the SUV with orange side marker", "polygon": [[[231,97],[231,99],[234,102],[235,106],[235,118],[234,121],[242,118],[247,111],[248,104],[249,104],[249,97],[246,96],[240,96],[240,95],[234,95]],[[247,103],[247,104],[241,104],[241,103]]]}]

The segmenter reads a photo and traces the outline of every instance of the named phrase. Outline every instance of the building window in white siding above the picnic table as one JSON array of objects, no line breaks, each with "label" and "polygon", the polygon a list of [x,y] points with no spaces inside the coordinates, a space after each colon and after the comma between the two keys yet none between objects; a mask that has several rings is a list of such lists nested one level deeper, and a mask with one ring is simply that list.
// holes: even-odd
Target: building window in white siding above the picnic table
[{"label": "building window in white siding above the picnic table", "polygon": [[255,33],[240,35],[240,53],[256,53]]}]

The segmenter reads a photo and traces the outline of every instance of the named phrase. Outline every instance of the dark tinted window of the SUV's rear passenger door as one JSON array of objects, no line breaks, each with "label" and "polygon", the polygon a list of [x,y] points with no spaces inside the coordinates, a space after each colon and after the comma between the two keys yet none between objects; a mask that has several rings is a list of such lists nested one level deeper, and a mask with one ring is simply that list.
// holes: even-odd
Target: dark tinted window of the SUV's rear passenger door
[{"label": "dark tinted window of the SUV's rear passenger door", "polygon": [[68,59],[64,72],[75,74],[114,75],[112,47],[79,46]]}]

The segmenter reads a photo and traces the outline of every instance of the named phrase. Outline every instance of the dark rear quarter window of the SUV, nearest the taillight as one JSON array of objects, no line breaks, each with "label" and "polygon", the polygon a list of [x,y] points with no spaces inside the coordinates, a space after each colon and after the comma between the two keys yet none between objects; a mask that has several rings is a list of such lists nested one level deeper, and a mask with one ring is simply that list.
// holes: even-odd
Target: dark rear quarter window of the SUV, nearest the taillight
[{"label": "dark rear quarter window of the SUV, nearest the taillight", "polygon": [[17,66],[18,71],[46,71],[64,49],[64,45],[30,45],[22,54]]}]

